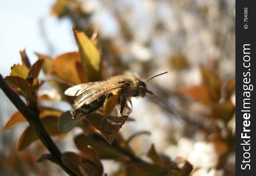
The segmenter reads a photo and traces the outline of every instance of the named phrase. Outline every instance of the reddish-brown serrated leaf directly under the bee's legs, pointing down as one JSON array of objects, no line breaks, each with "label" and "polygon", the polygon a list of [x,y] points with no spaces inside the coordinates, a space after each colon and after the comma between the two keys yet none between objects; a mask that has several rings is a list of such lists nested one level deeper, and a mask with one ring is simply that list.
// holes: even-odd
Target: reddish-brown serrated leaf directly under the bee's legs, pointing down
[{"label": "reddish-brown serrated leaf directly under the bee's legs, pointing down", "polygon": [[124,107],[123,116],[119,113],[120,106],[117,105],[107,116],[104,118],[103,108],[98,109],[86,116],[86,119],[94,126],[97,130],[102,133],[104,138],[109,144],[111,144],[116,136],[117,132],[122,128],[123,124],[127,120],[131,109],[126,105]]}]

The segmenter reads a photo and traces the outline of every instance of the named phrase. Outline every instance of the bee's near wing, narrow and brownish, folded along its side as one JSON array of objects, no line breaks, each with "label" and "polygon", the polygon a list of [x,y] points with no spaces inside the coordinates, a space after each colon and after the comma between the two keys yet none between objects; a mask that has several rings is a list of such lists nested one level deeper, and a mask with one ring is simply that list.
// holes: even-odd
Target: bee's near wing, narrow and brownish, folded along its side
[{"label": "bee's near wing, narrow and brownish, folded along its side", "polygon": [[115,85],[112,85],[112,86],[110,86],[110,87],[108,87],[106,89],[103,89],[103,90],[93,94],[90,97],[81,97],[81,99],[79,99],[77,101],[77,106],[76,106],[75,109],[78,109],[78,108],[82,107],[84,104],[90,104],[93,101],[95,101],[96,99],[102,97],[104,94],[106,94],[108,92],[111,92],[112,90],[125,87],[125,85],[126,85],[125,83],[115,84]]}]

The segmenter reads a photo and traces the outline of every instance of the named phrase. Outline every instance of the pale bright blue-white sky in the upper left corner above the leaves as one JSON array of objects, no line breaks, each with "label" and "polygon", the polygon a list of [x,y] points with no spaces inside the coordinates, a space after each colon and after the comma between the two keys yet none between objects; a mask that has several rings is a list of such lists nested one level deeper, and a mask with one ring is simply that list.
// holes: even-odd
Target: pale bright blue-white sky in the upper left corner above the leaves
[{"label": "pale bright blue-white sky in the upper left corner above the leaves", "polygon": [[[72,35],[71,22],[50,15],[55,0],[0,1],[0,73],[10,74],[13,64],[21,63],[19,49],[26,48],[31,63],[37,60],[34,52],[56,56],[78,50]],[[41,31],[51,43],[49,50]]]}]

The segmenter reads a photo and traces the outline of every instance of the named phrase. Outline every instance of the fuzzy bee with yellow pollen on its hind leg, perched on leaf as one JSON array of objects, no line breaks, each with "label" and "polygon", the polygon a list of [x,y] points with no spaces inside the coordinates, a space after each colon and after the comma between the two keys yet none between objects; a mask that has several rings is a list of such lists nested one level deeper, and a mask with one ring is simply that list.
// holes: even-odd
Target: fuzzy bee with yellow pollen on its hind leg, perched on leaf
[{"label": "fuzzy bee with yellow pollen on its hind leg, perched on leaf", "polygon": [[145,82],[165,73],[167,72],[146,80],[138,75],[117,75],[107,81],[88,82],[70,87],[64,93],[77,97],[70,113],[73,119],[79,118],[103,106],[103,116],[107,118],[112,109],[120,104],[120,114],[123,116],[124,107],[131,97],[145,97],[146,93],[154,95],[147,89]]}]

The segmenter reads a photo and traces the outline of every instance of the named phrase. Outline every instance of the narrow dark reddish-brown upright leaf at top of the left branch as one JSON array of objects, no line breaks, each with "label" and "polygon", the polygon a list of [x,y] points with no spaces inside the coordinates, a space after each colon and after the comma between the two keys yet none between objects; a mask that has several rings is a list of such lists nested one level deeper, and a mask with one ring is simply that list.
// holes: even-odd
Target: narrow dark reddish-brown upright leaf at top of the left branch
[{"label": "narrow dark reddish-brown upright leaf at top of the left branch", "polygon": [[39,59],[31,66],[27,77],[27,80],[30,82],[31,85],[37,84],[37,77],[39,75],[39,72],[41,71],[43,63],[44,59]]}]

